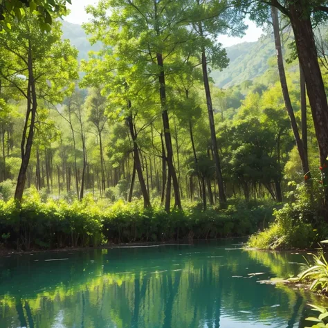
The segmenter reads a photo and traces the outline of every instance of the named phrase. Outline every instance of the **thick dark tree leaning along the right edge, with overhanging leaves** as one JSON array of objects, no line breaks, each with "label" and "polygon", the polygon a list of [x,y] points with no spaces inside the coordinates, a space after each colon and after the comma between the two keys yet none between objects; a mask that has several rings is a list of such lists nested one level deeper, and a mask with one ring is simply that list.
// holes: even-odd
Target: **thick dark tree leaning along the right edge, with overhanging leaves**
[{"label": "thick dark tree leaning along the right edge, with overhanging leaves", "polygon": [[316,25],[327,17],[328,1],[287,0],[280,3],[278,0],[235,0],[235,6],[251,12],[253,19],[262,22],[268,17],[270,6],[273,6],[291,21],[298,59],[304,71],[307,95],[316,129],[320,162],[323,169],[325,204],[328,208],[328,103],[313,33],[313,24]]}]

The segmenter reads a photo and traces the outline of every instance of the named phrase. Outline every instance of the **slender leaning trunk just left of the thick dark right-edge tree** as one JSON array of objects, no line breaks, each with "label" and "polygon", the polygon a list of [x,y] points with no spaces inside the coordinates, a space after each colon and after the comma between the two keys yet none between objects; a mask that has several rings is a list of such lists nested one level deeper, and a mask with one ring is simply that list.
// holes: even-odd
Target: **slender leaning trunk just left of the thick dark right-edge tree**
[{"label": "slender leaning trunk just left of the thick dark right-edge tree", "polygon": [[311,178],[311,174],[309,172],[309,163],[304,154],[302,140],[300,138],[300,133],[298,131],[297,122],[295,120],[295,115],[294,115],[293,107],[291,104],[291,98],[289,96],[289,90],[288,90],[287,81],[286,81],[286,73],[284,71],[284,60],[282,57],[282,44],[281,44],[281,39],[280,39],[280,28],[279,28],[277,8],[271,7],[271,16],[272,16],[272,22],[273,22],[273,32],[275,35],[275,50],[277,51],[277,65],[278,65],[278,71],[279,71],[279,76],[280,76],[280,84],[282,87],[282,94],[284,96],[284,104],[286,107],[286,111],[289,115],[289,119],[291,121],[291,129],[293,130],[295,143],[298,147],[298,154],[300,155],[300,160],[302,162],[304,181],[307,181]]}]

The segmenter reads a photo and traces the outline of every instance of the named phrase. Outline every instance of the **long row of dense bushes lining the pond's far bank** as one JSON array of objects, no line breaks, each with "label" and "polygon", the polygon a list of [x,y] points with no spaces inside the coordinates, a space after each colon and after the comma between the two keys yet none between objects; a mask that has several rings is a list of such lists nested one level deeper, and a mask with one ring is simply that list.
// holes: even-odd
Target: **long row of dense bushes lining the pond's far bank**
[{"label": "long row of dense bushes lining the pond's far bank", "polygon": [[[155,202],[156,203],[156,202]],[[254,233],[265,217],[264,206],[230,205],[226,210],[200,210],[188,203],[183,210],[167,214],[161,206],[143,208],[143,201],[109,206],[86,194],[82,202],[48,198],[42,202],[36,190],[17,206],[0,201],[0,236],[17,248],[99,246],[106,242],[165,242],[177,239],[241,237]],[[17,242],[18,241],[18,242]]]}]

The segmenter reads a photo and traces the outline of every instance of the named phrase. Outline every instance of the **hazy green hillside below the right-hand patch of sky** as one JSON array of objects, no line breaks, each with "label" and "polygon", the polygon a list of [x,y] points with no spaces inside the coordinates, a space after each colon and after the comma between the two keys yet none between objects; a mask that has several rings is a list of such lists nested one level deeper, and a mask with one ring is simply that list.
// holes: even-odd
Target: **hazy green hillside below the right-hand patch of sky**
[{"label": "hazy green hillside below the right-hand patch of sky", "polygon": [[212,71],[211,76],[220,88],[253,80],[268,69],[268,59],[275,55],[273,39],[259,39],[226,48],[229,66],[223,71]]}]

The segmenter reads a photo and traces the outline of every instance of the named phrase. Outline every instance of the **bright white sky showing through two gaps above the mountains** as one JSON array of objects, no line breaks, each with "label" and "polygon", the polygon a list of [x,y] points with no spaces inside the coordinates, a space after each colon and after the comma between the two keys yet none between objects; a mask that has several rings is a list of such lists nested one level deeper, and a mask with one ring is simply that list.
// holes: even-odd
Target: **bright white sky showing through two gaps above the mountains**
[{"label": "bright white sky showing through two gaps above the mountains", "polygon": [[[84,7],[88,5],[94,5],[98,3],[98,0],[71,0],[72,4],[68,4],[71,14],[65,17],[66,21],[73,24],[82,24],[88,21],[88,15],[86,14]],[[262,28],[257,28],[253,21],[246,20],[248,30],[246,35],[242,38],[228,37],[227,35],[221,35],[218,40],[224,47],[233,46],[234,44],[240,44],[242,42],[255,42],[262,35]]]}]

